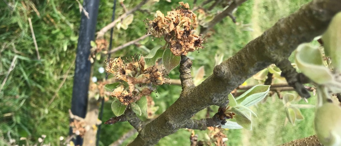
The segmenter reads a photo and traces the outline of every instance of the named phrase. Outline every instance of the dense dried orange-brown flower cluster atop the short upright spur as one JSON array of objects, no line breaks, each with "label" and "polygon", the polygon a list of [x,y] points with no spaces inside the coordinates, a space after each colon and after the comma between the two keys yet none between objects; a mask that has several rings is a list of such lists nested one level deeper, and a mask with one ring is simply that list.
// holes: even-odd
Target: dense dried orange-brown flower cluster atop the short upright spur
[{"label": "dense dried orange-brown flower cluster atop the short upright spur", "polygon": [[189,10],[188,3],[179,4],[181,6],[167,12],[167,16],[157,11],[156,18],[146,23],[149,34],[155,37],[164,36],[170,50],[176,56],[204,48],[202,35],[194,34],[194,26],[197,25],[196,15]]}]

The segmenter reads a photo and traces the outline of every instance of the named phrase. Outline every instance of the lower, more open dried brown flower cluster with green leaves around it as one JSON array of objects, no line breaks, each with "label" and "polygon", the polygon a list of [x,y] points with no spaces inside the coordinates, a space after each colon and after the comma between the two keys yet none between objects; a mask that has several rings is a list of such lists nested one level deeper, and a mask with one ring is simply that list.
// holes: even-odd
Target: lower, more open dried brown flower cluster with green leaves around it
[{"label": "lower, more open dried brown flower cluster with green leaves around it", "polygon": [[[134,55],[127,62],[121,57],[108,59],[105,71],[113,74],[121,82],[112,94],[122,104],[129,105],[139,100],[142,96],[150,95],[158,85],[165,83],[166,70],[157,69],[155,66],[145,68],[144,57]],[[128,85],[127,85],[128,84]]]}]

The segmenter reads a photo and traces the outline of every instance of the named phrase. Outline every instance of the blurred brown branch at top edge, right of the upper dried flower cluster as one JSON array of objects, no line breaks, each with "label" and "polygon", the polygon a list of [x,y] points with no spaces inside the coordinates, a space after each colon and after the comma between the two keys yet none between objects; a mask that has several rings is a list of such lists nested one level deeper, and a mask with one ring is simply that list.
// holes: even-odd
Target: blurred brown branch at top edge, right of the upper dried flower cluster
[{"label": "blurred brown branch at top edge, right of the upper dried flower cluster", "polygon": [[223,12],[216,15],[216,17],[214,17],[213,20],[208,23],[207,27],[202,27],[200,29],[200,34],[206,34],[209,29],[211,29],[214,25],[223,20],[226,16],[231,17],[233,22],[236,22],[236,18],[232,15],[232,12],[239,5],[246,1],[247,0],[234,0],[234,2],[230,6],[228,6]]}]

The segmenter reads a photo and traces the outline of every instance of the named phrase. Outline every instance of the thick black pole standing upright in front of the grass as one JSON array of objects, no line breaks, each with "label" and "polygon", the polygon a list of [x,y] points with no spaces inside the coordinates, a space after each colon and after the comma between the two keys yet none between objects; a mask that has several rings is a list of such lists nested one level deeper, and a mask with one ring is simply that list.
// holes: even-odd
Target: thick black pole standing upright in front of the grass
[{"label": "thick black pole standing upright in front of the grass", "polygon": [[[76,55],[76,68],[73,78],[71,112],[79,117],[85,117],[88,103],[91,63],[90,41],[94,40],[99,0],[84,0],[83,7],[89,13],[89,18],[81,13],[79,38]],[[70,134],[72,129],[70,128]],[[79,136],[74,140],[75,145],[83,145]]]}]

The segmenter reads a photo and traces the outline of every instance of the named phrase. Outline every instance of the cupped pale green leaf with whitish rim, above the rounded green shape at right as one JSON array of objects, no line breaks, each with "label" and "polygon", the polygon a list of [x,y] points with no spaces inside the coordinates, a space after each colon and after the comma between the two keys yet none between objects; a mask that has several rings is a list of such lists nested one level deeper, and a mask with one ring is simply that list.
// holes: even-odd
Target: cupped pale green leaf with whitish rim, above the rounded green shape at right
[{"label": "cupped pale green leaf with whitish rim, above the rounded green shape at right", "polygon": [[302,73],[317,84],[328,84],[333,81],[331,72],[323,65],[322,53],[318,47],[311,47],[309,44],[299,45],[295,61]]}]

